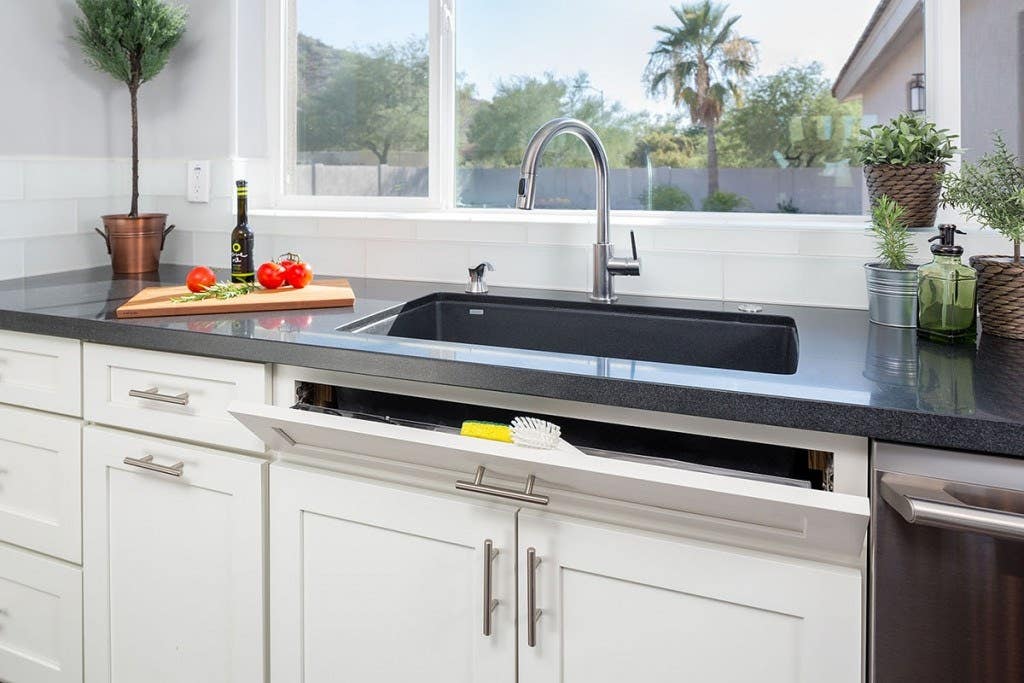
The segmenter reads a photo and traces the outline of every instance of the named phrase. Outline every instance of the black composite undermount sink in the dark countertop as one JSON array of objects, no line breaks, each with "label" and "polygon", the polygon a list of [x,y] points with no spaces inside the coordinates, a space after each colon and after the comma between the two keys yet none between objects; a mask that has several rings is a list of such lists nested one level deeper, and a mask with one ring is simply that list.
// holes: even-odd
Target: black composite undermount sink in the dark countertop
[{"label": "black composite undermount sink in the dark countertop", "polygon": [[791,317],[438,293],[342,328],[407,339],[792,375]]}]

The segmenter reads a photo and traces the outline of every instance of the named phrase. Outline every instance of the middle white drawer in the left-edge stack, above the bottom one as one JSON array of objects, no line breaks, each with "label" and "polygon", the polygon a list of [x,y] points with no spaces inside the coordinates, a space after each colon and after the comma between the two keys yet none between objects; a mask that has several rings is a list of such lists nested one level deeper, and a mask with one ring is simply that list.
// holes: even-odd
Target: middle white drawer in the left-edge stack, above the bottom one
[{"label": "middle white drawer in the left-edge stack, above the bottom one", "polygon": [[81,562],[79,420],[0,405],[0,541]]}]

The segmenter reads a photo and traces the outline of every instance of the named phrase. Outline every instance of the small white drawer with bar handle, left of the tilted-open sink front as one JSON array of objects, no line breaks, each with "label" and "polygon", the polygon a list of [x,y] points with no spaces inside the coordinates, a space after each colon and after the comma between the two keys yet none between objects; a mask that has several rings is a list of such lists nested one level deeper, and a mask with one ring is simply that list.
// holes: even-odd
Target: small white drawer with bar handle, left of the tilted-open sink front
[{"label": "small white drawer with bar handle, left of the tilted-open sink front", "polygon": [[117,346],[85,345],[85,417],[151,434],[262,452],[227,403],[267,402],[269,369]]}]

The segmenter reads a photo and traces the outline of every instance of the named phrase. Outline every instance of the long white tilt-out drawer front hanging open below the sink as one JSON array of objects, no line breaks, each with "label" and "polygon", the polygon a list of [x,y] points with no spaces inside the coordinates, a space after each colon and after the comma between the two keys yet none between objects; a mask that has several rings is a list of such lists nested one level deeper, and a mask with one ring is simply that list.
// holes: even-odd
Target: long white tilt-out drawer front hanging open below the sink
[{"label": "long white tilt-out drawer front hanging open below the sink", "polygon": [[604,458],[564,443],[540,451],[273,405],[239,402],[230,410],[275,451],[446,470],[455,474],[452,490],[468,496],[558,510],[611,504],[634,516],[643,506],[699,538],[848,564],[863,550],[869,512],[858,496]]}]

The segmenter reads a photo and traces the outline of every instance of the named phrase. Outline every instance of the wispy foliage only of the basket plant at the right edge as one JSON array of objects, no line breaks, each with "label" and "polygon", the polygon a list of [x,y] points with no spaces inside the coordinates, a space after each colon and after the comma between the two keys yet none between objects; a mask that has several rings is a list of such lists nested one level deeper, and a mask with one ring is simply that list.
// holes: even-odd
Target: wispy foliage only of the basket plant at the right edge
[{"label": "wispy foliage only of the basket plant at the right edge", "polygon": [[1024,241],[1024,167],[998,132],[992,133],[993,152],[977,164],[965,162],[959,173],[942,175],[942,206],[955,207],[985,227],[1014,243],[1014,262],[1020,263]]}]

